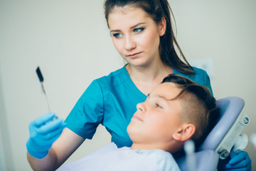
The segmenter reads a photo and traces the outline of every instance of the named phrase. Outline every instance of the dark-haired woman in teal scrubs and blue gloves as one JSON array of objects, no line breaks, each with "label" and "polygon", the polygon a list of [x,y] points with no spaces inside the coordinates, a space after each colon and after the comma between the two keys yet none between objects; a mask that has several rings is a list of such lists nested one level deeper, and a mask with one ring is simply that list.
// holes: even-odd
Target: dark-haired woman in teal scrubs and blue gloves
[{"label": "dark-haired woman in teal scrubs and blue gloves", "polygon": [[[99,124],[106,127],[117,147],[130,147],[127,125],[136,105],[170,73],[190,78],[212,91],[206,71],[190,66],[183,56],[171,14],[167,0],[105,1],[105,18],[114,47],[127,65],[92,81],[64,123],[60,118],[48,122],[54,113],[31,122],[26,147],[34,170],[58,169],[85,139],[92,138]],[[251,170],[247,152],[230,157],[228,164],[219,165],[220,170]]]}]

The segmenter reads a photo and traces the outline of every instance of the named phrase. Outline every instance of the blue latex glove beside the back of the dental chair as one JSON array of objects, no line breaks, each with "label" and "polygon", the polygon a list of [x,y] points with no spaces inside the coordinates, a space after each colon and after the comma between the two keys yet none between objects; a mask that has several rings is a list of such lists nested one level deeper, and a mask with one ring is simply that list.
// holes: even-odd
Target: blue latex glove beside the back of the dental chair
[{"label": "blue latex glove beside the back of the dental chair", "polygon": [[252,170],[252,163],[250,157],[247,152],[245,151],[238,151],[230,152],[230,161],[228,164],[225,165],[226,170],[232,171],[251,171]]}]

